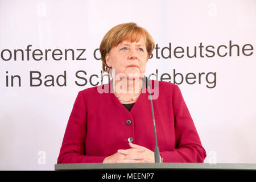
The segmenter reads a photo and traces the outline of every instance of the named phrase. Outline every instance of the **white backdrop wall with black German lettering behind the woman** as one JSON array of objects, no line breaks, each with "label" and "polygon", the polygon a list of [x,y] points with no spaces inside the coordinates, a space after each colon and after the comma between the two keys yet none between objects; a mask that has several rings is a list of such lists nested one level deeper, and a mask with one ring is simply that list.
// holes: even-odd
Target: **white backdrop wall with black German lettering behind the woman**
[{"label": "white backdrop wall with black German lettering behind the woman", "polygon": [[[158,44],[146,76],[157,69],[158,80],[168,73],[171,79],[164,81],[174,82],[174,69],[184,79],[195,74],[188,80],[194,84],[179,84],[179,74],[175,80],[207,151],[205,163],[256,163],[256,1],[1,0],[0,169],[54,169],[77,93],[93,86],[91,75],[98,75],[93,84],[100,82],[94,50],[110,28],[127,22],[146,28]],[[196,57],[187,56],[187,47],[190,56],[196,47]],[[52,56],[55,49],[60,50]],[[74,50],[74,59],[71,51],[65,59],[65,49]],[[86,49],[80,57],[86,60],[77,60],[77,49]],[[32,71],[41,73],[42,85],[30,85]],[[64,72],[66,85],[59,86],[56,78]],[[47,75],[55,86],[44,85],[51,80]]]}]

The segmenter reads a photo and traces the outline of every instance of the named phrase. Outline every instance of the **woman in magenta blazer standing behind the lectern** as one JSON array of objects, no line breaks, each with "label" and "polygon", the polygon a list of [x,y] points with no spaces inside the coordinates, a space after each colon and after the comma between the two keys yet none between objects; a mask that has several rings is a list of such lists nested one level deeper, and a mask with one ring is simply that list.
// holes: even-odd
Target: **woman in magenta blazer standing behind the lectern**
[{"label": "woman in magenta blazer standing behind the lectern", "polygon": [[[119,24],[104,36],[102,69],[113,79],[79,92],[57,163],[154,163],[151,106],[142,81],[154,46],[151,35],[135,23]],[[179,87],[150,81],[161,162],[204,162],[206,153]]]}]

